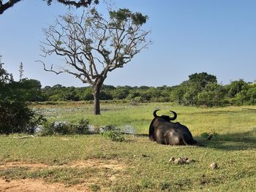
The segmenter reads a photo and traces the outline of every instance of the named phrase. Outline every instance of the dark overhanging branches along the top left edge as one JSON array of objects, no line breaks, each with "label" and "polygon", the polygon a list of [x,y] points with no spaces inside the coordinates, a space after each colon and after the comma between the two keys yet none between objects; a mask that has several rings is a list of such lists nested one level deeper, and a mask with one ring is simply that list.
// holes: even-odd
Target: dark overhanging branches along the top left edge
[{"label": "dark overhanging branches along the top left edge", "polygon": [[[7,9],[9,9],[10,7],[13,7],[15,4],[17,4],[19,1],[21,0],[10,0],[10,1],[4,1],[4,0],[0,0],[0,15],[4,13],[4,11],[6,11]],[[43,0],[46,1],[48,5],[50,5],[52,3],[53,0]],[[80,0],[80,1],[76,1],[76,0],[56,0],[61,4],[67,5],[67,6],[73,6],[73,7],[88,7],[91,4],[92,0]],[[94,0],[95,4],[99,3],[99,0]]]}]

